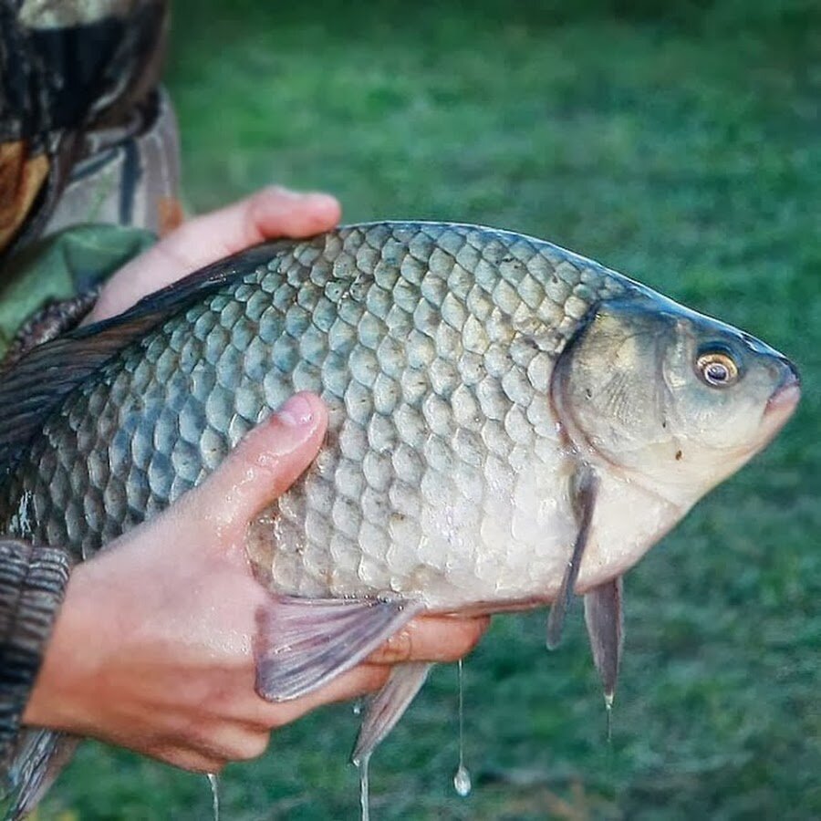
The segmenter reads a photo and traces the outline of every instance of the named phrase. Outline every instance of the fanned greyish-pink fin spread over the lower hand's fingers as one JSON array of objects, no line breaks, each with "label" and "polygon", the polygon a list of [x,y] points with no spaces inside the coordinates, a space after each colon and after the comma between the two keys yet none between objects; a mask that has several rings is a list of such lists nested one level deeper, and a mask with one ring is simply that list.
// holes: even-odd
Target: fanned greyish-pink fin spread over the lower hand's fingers
[{"label": "fanned greyish-pink fin spread over the lower hand's fingers", "polygon": [[256,691],[288,701],[350,670],[422,605],[379,598],[272,596],[256,617]]}]

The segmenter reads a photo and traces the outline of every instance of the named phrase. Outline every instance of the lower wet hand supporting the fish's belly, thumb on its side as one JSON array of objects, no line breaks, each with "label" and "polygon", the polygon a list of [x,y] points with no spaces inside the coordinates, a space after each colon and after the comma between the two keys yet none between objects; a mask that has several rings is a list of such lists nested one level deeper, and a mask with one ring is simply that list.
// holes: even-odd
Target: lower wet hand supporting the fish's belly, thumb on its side
[{"label": "lower wet hand supporting the fish's belly, thumb on its side", "polygon": [[78,566],[24,722],[216,772],[265,751],[269,731],[377,690],[390,664],[449,661],[484,618],[414,619],[365,664],[281,703],[255,692],[255,617],[268,594],[244,551],[247,524],[307,468],[327,425],[299,394],[203,484]]}]

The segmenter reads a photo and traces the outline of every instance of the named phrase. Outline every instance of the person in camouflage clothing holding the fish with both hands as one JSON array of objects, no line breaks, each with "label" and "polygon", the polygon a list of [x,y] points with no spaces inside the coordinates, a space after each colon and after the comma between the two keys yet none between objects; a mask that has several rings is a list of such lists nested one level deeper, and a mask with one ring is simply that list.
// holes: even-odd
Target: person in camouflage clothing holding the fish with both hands
[{"label": "person in camouflage clothing holding the fish with both hands", "polygon": [[[166,16],[162,2],[0,2],[6,374],[26,350],[203,265],[338,223],[333,197],[277,187],[182,221],[176,128],[156,86]],[[305,697],[257,695],[256,616],[269,594],[245,531],[307,468],[326,426],[315,395],[294,396],[205,482],[88,562],[0,536],[0,775],[17,793],[13,814],[36,805],[73,736],[212,773],[263,753],[272,729],[378,690],[394,664],[473,648],[486,618],[414,618]]]}]

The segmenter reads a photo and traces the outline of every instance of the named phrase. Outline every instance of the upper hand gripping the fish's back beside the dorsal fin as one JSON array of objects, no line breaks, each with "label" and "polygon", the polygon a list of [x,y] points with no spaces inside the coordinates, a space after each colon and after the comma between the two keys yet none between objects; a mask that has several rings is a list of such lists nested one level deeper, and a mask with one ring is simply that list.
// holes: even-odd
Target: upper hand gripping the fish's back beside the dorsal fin
[{"label": "upper hand gripping the fish's back beside the dorsal fin", "polygon": [[120,268],[86,321],[116,316],[140,297],[265,239],[298,239],[327,231],[340,214],[338,200],[329,194],[269,186],[239,203],[194,217]]}]

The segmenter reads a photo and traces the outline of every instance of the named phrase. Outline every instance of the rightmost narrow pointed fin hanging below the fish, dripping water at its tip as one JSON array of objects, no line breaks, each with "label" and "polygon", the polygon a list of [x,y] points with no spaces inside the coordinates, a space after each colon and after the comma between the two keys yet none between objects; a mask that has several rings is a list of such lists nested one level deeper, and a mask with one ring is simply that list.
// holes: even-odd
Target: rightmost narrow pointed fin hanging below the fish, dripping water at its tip
[{"label": "rightmost narrow pointed fin hanging below the fish, dripping water at its tip", "polygon": [[616,696],[618,668],[624,646],[623,585],[621,577],[594,587],[585,594],[585,622],[608,707]]}]

